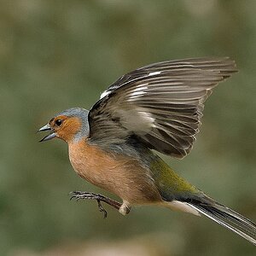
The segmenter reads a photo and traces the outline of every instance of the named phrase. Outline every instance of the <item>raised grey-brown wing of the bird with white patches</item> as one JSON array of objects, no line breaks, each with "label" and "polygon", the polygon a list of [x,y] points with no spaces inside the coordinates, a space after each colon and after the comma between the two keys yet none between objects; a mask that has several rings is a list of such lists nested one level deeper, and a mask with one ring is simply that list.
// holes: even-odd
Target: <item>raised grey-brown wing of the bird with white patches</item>
[{"label": "raised grey-brown wing of the bird with white patches", "polygon": [[90,140],[99,145],[140,143],[183,158],[199,131],[212,88],[236,72],[230,58],[164,61],[125,74],[90,109]]}]

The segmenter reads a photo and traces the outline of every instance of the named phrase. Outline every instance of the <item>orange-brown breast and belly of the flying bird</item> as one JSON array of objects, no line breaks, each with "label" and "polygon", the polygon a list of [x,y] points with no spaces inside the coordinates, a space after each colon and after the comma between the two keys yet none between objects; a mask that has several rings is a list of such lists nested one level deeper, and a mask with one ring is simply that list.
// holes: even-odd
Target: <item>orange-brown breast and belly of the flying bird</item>
[{"label": "orange-brown breast and belly of the flying bird", "polygon": [[149,171],[131,157],[109,154],[81,140],[69,143],[69,158],[79,176],[131,204],[161,201]]}]

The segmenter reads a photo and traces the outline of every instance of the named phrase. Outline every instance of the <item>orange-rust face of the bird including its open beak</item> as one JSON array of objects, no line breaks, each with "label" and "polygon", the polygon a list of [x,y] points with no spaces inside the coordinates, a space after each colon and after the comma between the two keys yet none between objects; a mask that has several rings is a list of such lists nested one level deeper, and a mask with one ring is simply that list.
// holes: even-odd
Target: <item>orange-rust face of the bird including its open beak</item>
[{"label": "orange-rust face of the bird including its open beak", "polygon": [[69,143],[73,141],[73,138],[81,130],[82,122],[79,117],[66,115],[58,115],[49,120],[48,125],[44,125],[39,131],[51,131],[50,134],[44,137],[41,141],[47,141],[54,137],[61,138],[65,142]]}]

